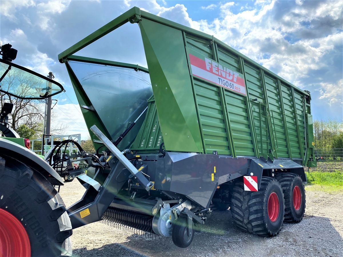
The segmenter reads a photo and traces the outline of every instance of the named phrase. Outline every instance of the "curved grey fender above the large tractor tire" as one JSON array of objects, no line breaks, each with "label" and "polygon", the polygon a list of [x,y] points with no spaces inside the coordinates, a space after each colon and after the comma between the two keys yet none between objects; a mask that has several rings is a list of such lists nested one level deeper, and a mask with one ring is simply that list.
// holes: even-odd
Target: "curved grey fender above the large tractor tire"
[{"label": "curved grey fender above the large tractor tire", "polygon": [[38,171],[53,185],[64,185],[60,175],[34,152],[7,139],[0,138],[0,157],[6,159],[5,156],[15,158],[31,169]]}]

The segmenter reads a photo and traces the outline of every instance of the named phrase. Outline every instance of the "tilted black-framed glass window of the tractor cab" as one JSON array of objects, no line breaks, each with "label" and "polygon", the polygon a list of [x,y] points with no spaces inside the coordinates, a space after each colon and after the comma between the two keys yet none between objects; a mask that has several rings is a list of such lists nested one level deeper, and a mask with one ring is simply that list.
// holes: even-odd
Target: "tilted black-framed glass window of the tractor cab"
[{"label": "tilted black-framed glass window of the tractor cab", "polygon": [[61,84],[0,59],[0,91],[21,99],[44,99],[63,91]]}]

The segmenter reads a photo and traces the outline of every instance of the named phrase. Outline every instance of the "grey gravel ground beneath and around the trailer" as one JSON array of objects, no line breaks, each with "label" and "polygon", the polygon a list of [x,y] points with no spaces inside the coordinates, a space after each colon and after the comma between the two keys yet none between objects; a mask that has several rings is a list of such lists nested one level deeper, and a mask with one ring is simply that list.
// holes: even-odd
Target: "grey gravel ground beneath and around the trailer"
[{"label": "grey gravel ground beneath and around the trailer", "polygon": [[[60,190],[67,206],[83,193],[77,180]],[[303,221],[284,223],[276,237],[241,232],[229,210],[214,211],[186,249],[171,237],[152,239],[95,222],[73,230],[73,256],[343,256],[343,194],[309,190],[306,196]]]}]

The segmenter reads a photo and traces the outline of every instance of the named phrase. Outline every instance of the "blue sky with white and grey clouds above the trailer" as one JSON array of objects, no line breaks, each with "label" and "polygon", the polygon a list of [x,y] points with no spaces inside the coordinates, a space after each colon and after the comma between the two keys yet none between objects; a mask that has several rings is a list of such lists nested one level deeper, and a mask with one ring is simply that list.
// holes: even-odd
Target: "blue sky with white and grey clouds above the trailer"
[{"label": "blue sky with white and grey clouds above the trailer", "polygon": [[[343,117],[343,1],[32,1],[1,0],[0,40],[17,64],[52,71],[55,124],[88,136],[64,64],[57,55],[133,6],[201,30],[312,95],[315,119]],[[77,54],[146,66],[139,29],[125,26]]]}]

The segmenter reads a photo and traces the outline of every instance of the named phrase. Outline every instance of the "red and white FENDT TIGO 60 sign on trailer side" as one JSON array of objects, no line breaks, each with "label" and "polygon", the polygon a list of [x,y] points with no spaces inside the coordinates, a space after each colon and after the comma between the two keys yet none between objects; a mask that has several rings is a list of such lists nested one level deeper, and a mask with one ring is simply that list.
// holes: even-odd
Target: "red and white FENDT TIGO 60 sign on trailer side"
[{"label": "red and white FENDT TIGO 60 sign on trailer side", "polygon": [[212,59],[203,59],[189,54],[192,75],[224,87],[236,93],[247,95],[243,74],[233,71]]}]

